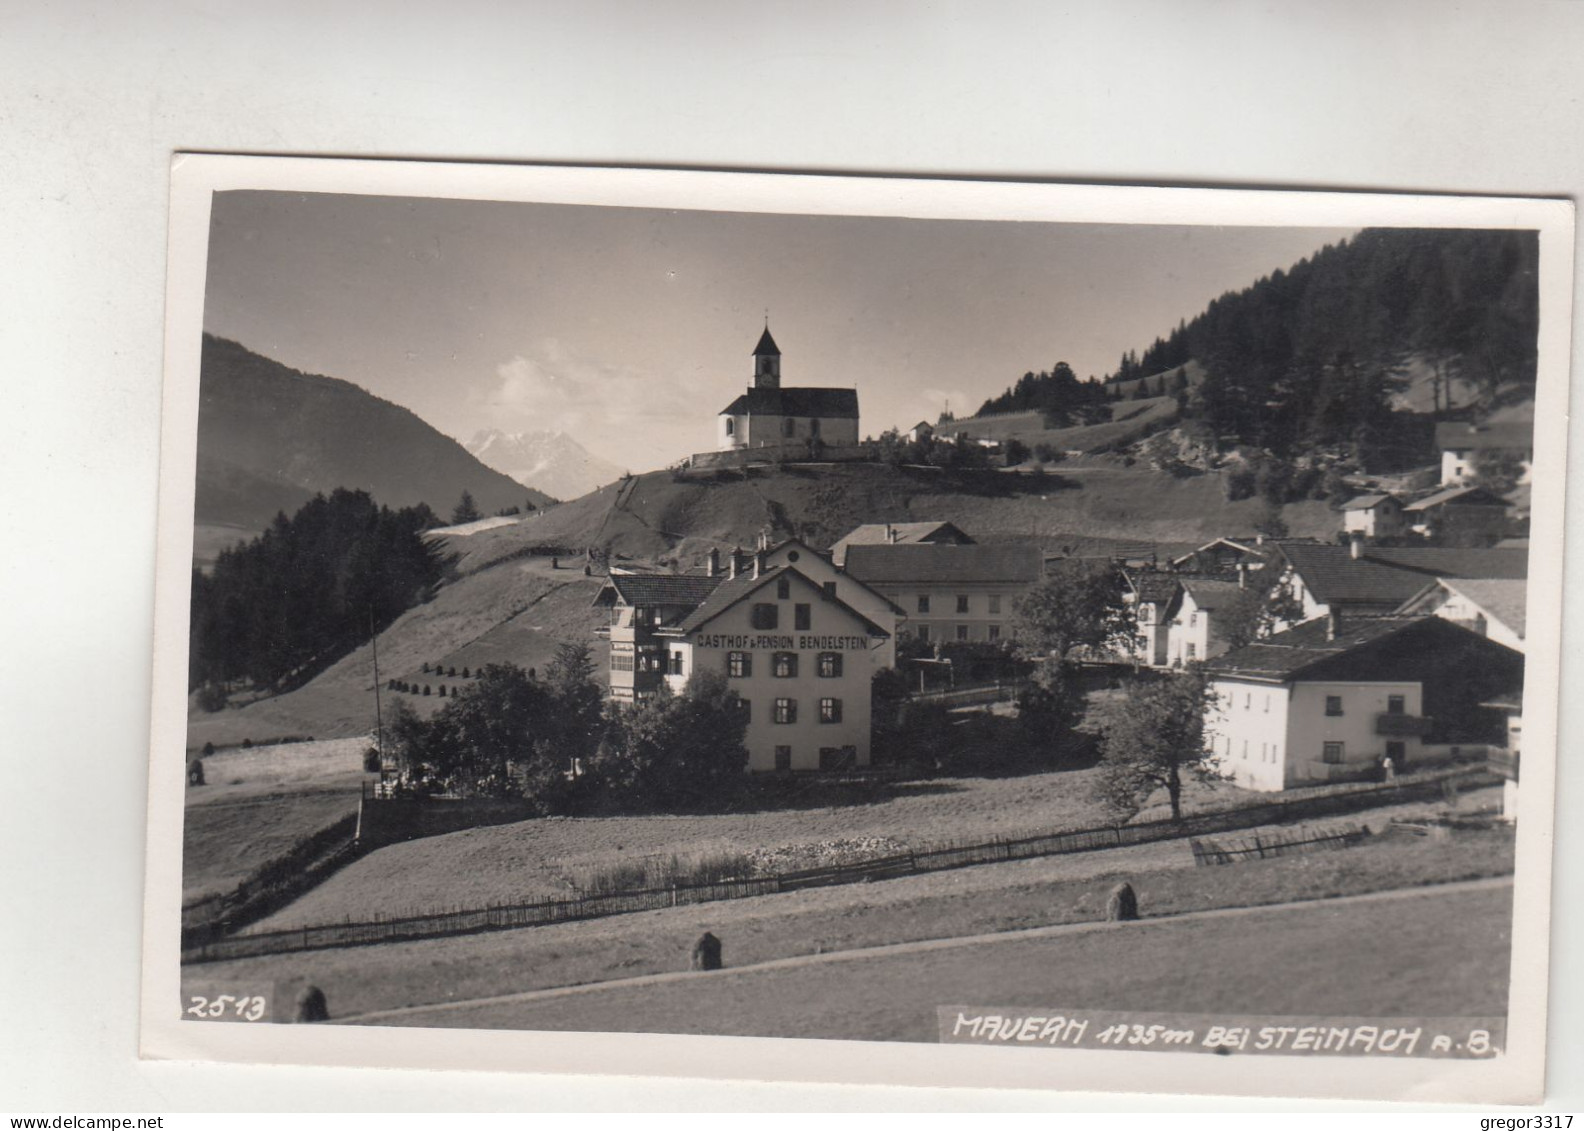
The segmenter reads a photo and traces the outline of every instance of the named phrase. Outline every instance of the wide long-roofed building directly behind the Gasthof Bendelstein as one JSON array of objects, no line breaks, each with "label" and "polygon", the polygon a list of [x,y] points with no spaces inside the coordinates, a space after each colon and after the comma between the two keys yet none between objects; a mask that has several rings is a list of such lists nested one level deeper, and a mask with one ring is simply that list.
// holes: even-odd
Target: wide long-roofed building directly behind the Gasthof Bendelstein
[{"label": "wide long-roofed building directly behind the Gasthof Bendelstein", "polygon": [[849,545],[844,572],[908,615],[904,634],[922,642],[996,642],[1012,607],[1044,572],[1039,546],[879,543]]}]

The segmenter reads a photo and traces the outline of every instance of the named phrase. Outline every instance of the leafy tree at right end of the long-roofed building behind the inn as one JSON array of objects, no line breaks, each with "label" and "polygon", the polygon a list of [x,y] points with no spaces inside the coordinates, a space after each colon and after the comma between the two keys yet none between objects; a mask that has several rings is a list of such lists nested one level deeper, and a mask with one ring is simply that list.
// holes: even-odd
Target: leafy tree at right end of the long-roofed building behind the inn
[{"label": "leafy tree at right end of the long-roofed building behind the inn", "polygon": [[1074,648],[1131,640],[1133,621],[1115,569],[1063,561],[1012,608],[1012,638],[1025,659],[1066,662]]}]

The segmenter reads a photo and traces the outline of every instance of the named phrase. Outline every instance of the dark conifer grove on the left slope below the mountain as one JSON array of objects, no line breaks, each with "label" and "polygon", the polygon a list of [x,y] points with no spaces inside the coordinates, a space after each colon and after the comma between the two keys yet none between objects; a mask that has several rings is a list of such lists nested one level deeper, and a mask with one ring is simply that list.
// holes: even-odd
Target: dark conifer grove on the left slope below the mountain
[{"label": "dark conifer grove on the left slope below the mountain", "polygon": [[[425,505],[390,510],[366,491],[315,496],[291,518],[193,570],[188,686],[299,683],[426,600],[450,559],[425,537]],[[223,705],[223,692],[217,702]]]}]

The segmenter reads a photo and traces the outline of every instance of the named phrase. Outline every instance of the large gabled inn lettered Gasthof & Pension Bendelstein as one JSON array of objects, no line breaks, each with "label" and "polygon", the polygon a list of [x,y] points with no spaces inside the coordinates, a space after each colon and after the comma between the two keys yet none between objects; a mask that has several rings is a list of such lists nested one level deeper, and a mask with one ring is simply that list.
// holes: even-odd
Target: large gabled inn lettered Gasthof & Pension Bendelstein
[{"label": "large gabled inn lettered Gasthof & Pension Bendelstein", "polygon": [[768,566],[768,553],[733,556],[713,577],[643,575],[656,586],[613,575],[596,597],[611,610],[611,699],[719,672],[748,714],[751,771],[868,765],[870,684],[890,634],[795,566]]}]

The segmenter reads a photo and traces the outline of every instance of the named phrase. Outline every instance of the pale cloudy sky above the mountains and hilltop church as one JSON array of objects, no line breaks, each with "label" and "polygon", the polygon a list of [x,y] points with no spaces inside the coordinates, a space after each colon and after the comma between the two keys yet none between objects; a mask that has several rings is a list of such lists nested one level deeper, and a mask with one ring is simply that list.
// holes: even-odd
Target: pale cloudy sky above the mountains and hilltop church
[{"label": "pale cloudy sky above the mountains and hilltop church", "polygon": [[1350,234],[228,192],[204,329],[458,440],[564,431],[642,472],[714,447],[767,310],[782,385],[855,387],[878,436],[1102,377]]}]

